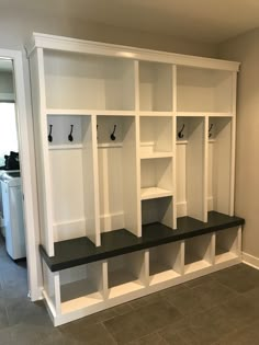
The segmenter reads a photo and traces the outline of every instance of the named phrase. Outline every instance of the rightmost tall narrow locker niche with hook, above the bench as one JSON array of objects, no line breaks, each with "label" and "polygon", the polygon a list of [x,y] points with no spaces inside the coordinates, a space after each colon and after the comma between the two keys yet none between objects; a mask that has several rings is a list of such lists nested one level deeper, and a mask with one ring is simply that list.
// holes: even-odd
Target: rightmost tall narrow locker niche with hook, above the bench
[{"label": "rightmost tall narrow locker niche with hook, above the bench", "polygon": [[233,216],[233,118],[209,117],[207,210]]}]

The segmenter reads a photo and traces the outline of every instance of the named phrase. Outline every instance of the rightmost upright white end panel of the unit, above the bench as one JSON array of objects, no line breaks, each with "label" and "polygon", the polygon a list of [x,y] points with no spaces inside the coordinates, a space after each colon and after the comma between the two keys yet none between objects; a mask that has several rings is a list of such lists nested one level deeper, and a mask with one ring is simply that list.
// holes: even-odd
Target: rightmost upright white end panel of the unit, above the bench
[{"label": "rightmost upright white end panel of the unit, above the bench", "polygon": [[236,104],[237,104],[237,72],[233,72],[233,118],[232,118],[232,158],[230,158],[230,191],[229,191],[229,216],[234,216],[235,198],[235,157],[236,157]]}]

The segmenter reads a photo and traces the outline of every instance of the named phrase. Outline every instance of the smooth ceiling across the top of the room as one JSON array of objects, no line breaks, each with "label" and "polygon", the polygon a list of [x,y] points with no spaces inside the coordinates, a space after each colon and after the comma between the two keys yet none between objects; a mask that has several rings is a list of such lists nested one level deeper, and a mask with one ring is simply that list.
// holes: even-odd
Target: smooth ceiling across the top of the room
[{"label": "smooth ceiling across the top of the room", "polygon": [[1,0],[1,7],[213,44],[259,26],[259,0]]}]

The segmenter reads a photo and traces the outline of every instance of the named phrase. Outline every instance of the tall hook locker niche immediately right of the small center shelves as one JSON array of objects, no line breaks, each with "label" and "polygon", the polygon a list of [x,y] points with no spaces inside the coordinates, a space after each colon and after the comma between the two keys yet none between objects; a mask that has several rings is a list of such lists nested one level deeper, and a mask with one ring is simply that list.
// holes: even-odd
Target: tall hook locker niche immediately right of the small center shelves
[{"label": "tall hook locker niche immediately right of the small center shelves", "polygon": [[206,221],[205,118],[177,117],[177,217]]}]

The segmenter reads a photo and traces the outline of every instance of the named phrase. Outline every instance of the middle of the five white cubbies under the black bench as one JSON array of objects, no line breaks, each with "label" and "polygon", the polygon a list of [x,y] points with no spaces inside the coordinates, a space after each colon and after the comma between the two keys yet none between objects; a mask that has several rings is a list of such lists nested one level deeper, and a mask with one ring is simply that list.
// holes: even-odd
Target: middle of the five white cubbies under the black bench
[{"label": "middle of the five white cubbies under the black bench", "polygon": [[149,285],[160,284],[182,274],[181,242],[149,249]]}]

